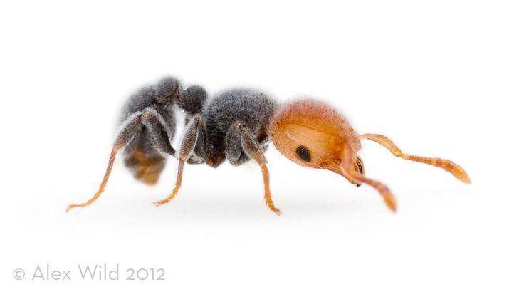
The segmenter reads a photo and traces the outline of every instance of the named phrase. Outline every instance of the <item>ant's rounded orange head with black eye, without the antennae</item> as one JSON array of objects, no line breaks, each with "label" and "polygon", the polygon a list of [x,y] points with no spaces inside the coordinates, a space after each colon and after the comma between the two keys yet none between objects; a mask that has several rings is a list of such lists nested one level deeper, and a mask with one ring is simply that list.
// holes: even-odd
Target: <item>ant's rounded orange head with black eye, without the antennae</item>
[{"label": "ant's rounded orange head with black eye, without the antennae", "polygon": [[350,165],[364,172],[362,160],[357,156],[359,135],[337,110],[318,100],[298,100],[285,105],[273,116],[269,135],[276,149],[299,165],[344,175],[342,157],[346,154]]}]

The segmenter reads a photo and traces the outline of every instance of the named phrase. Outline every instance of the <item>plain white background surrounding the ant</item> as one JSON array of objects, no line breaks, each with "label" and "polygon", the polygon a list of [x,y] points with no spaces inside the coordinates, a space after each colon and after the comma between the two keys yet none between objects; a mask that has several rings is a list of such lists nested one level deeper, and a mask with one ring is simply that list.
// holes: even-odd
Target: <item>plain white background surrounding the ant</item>
[{"label": "plain white background surrounding the ant", "polygon": [[[0,4],[2,286],[70,285],[31,281],[46,263],[74,286],[523,286],[520,1],[108,2]],[[394,214],[271,146],[280,217],[256,165],[187,166],[157,208],[175,160],[151,188],[119,158],[98,202],[66,214],[97,189],[122,103],[164,75],[325,100],[473,184],[364,142]],[[81,281],[88,263],[120,263],[120,281]],[[166,280],[125,281],[127,268]]]}]

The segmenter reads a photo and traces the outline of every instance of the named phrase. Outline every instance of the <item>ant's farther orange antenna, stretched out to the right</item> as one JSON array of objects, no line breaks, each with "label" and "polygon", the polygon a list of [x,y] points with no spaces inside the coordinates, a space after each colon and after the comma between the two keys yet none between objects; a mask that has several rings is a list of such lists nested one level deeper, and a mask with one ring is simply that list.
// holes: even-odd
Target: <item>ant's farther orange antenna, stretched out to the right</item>
[{"label": "ant's farther orange antenna, stretched out to the right", "polygon": [[402,150],[397,147],[389,138],[385,137],[384,135],[375,135],[375,134],[365,134],[361,135],[363,139],[372,140],[374,142],[378,142],[383,147],[386,147],[390,152],[392,152],[393,155],[397,157],[402,157],[404,160],[412,160],[414,162],[422,162],[426,165],[434,165],[435,167],[441,167],[442,169],[445,169],[446,171],[450,172],[454,175],[457,179],[459,179],[461,182],[465,183],[471,183],[471,180],[468,177],[468,174],[466,171],[457,165],[454,162],[451,162],[451,160],[442,160],[438,157],[420,157],[418,155],[407,155],[402,152]]}]

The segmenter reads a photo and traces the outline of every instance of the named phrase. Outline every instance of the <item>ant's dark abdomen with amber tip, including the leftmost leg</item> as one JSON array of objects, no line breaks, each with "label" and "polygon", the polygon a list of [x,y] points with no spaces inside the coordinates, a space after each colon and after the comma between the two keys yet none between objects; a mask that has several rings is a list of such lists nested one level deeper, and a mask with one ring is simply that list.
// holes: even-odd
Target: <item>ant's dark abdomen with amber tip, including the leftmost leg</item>
[{"label": "ant's dark abdomen with amber tip, including the leftmost leg", "polygon": [[157,85],[132,95],[122,110],[120,130],[98,192],[83,204],[70,204],[68,210],[86,207],[100,197],[120,150],[123,150],[125,166],[136,179],[155,184],[164,169],[166,155],[175,154],[170,143],[176,127],[174,103],[186,93],[178,80],[164,78]]}]

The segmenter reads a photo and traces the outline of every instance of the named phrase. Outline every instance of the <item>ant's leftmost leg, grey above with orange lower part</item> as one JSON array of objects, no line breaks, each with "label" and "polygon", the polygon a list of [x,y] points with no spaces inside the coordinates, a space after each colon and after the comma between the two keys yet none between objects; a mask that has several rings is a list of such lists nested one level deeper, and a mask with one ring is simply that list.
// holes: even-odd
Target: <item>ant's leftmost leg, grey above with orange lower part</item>
[{"label": "ant's leftmost leg, grey above with orange lower part", "polygon": [[100,194],[104,192],[105,184],[108,183],[109,175],[111,174],[112,165],[115,162],[115,157],[117,155],[118,150],[120,150],[122,147],[125,147],[132,138],[137,133],[137,128],[140,125],[140,117],[142,115],[142,112],[132,113],[127,119],[122,122],[122,128],[120,129],[120,133],[117,136],[117,139],[115,140],[115,143],[112,146],[111,154],[109,157],[108,167],[105,169],[105,175],[102,180],[102,183],[100,183],[100,187],[98,187],[98,191],[91,197],[87,202],[84,202],[82,204],[70,204],[68,206],[67,212],[70,209],[77,208],[77,207],[87,207],[89,204],[92,204],[95,202],[98,197],[100,197]]}]

